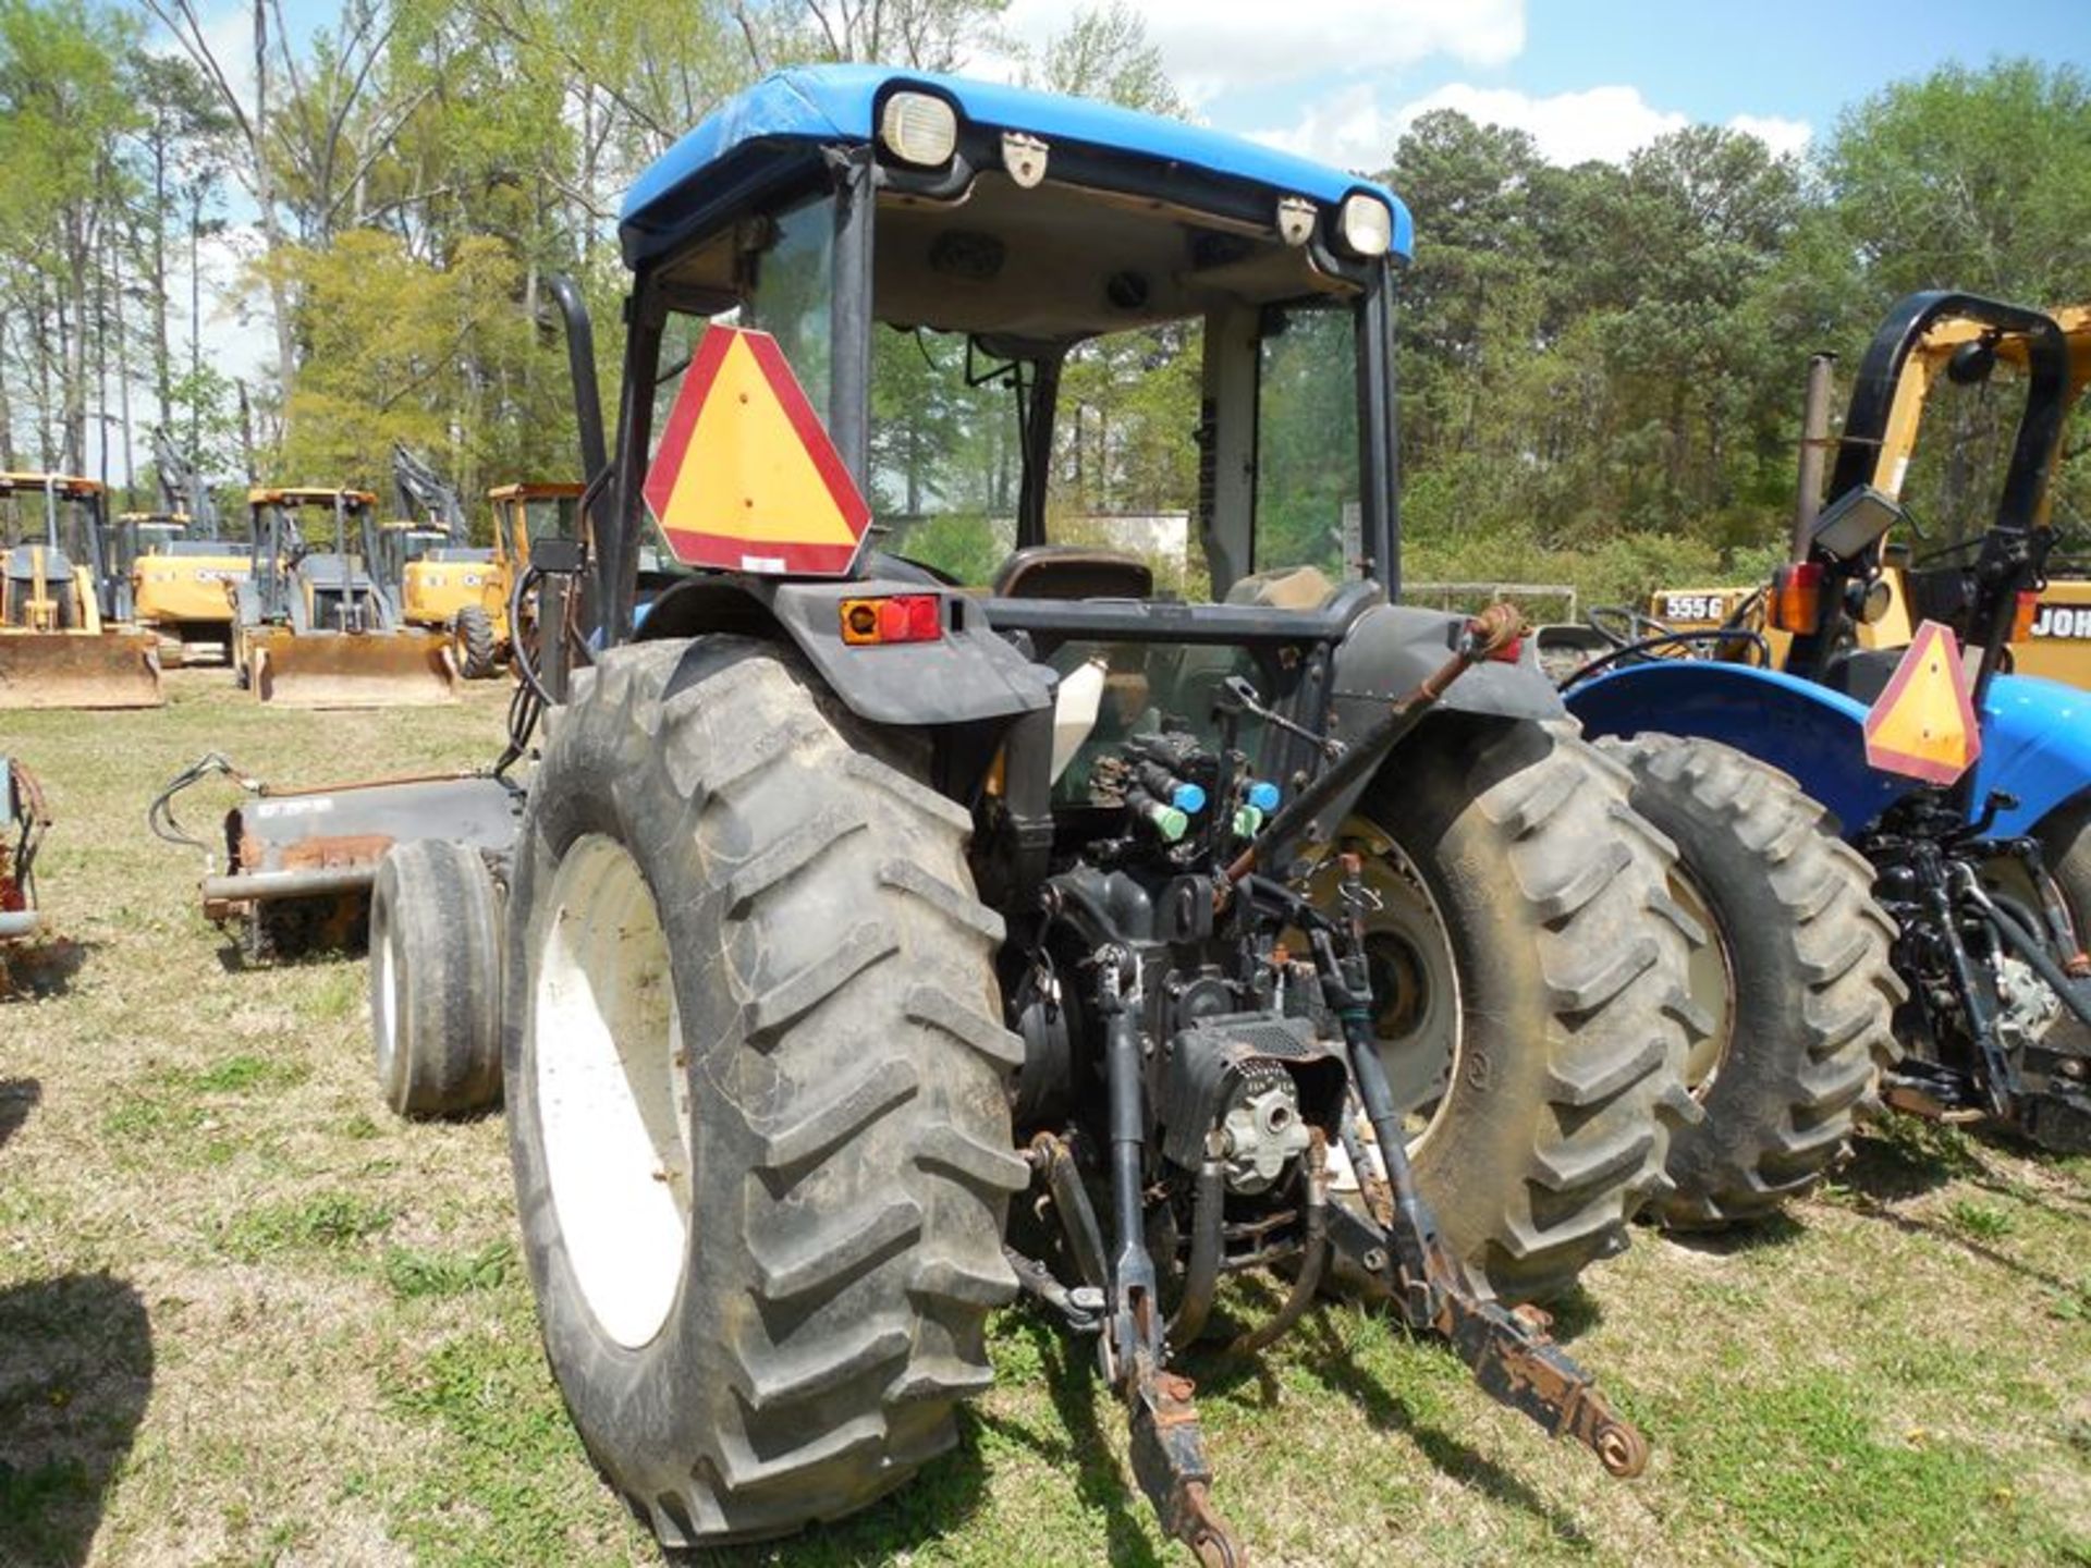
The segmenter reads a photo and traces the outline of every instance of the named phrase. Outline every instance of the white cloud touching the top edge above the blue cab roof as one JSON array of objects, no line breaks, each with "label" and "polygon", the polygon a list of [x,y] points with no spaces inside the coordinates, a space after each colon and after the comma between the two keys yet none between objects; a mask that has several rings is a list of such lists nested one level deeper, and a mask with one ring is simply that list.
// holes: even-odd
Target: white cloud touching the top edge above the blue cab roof
[{"label": "white cloud touching the top edge above the blue cab roof", "polygon": [[[1267,0],[1142,0],[1135,8],[1192,102],[1322,71],[1391,71],[1437,54],[1508,65],[1524,52],[1524,0],[1322,0],[1280,13]],[[1066,0],[1014,0],[1004,15],[1031,46],[1066,23]]]}]

